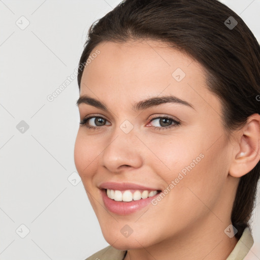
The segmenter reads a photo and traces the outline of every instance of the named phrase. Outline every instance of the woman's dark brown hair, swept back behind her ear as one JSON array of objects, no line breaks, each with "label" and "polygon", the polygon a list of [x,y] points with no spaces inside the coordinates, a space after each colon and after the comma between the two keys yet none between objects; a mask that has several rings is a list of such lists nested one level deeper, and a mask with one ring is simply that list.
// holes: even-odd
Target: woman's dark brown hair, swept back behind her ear
[{"label": "woman's dark brown hair, swept back behind her ear", "polygon": [[[90,26],[79,64],[86,62],[101,42],[142,39],[163,41],[203,65],[208,88],[220,99],[227,137],[245,125],[250,115],[260,114],[256,100],[260,93],[260,47],[230,8],[217,0],[122,1]],[[82,73],[79,68],[79,88]],[[250,228],[259,173],[258,161],[240,178],[231,216],[237,238]]]}]

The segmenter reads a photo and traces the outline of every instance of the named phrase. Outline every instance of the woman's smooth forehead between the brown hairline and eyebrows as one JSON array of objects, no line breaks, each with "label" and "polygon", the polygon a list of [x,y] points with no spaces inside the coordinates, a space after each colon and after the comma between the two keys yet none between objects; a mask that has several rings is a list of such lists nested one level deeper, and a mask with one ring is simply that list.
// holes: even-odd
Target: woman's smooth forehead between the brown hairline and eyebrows
[{"label": "woman's smooth forehead between the brown hairline and eyebrows", "polygon": [[207,89],[201,64],[166,43],[103,42],[93,49],[90,57],[97,50],[99,55],[83,71],[81,95],[94,93],[102,101],[109,97],[118,104],[174,94],[194,107],[215,106],[213,109],[220,110],[219,100]]}]

